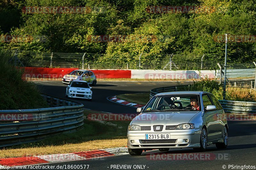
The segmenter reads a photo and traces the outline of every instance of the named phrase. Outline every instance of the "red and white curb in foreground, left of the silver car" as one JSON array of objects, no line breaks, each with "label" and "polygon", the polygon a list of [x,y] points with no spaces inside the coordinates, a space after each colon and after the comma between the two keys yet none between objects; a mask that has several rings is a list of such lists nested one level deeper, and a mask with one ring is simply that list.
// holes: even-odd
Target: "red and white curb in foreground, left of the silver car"
[{"label": "red and white curb in foreground, left of the silver car", "polygon": [[96,151],[86,152],[74,152],[65,154],[53,154],[53,155],[42,155],[42,156],[31,156],[31,157],[19,157],[19,158],[3,158],[0,159],[0,169],[6,168],[7,166],[25,166],[35,165],[42,163],[52,162],[63,162],[73,160],[84,160],[93,158],[110,157],[116,155],[129,154],[127,147],[120,148],[109,148]]}]

